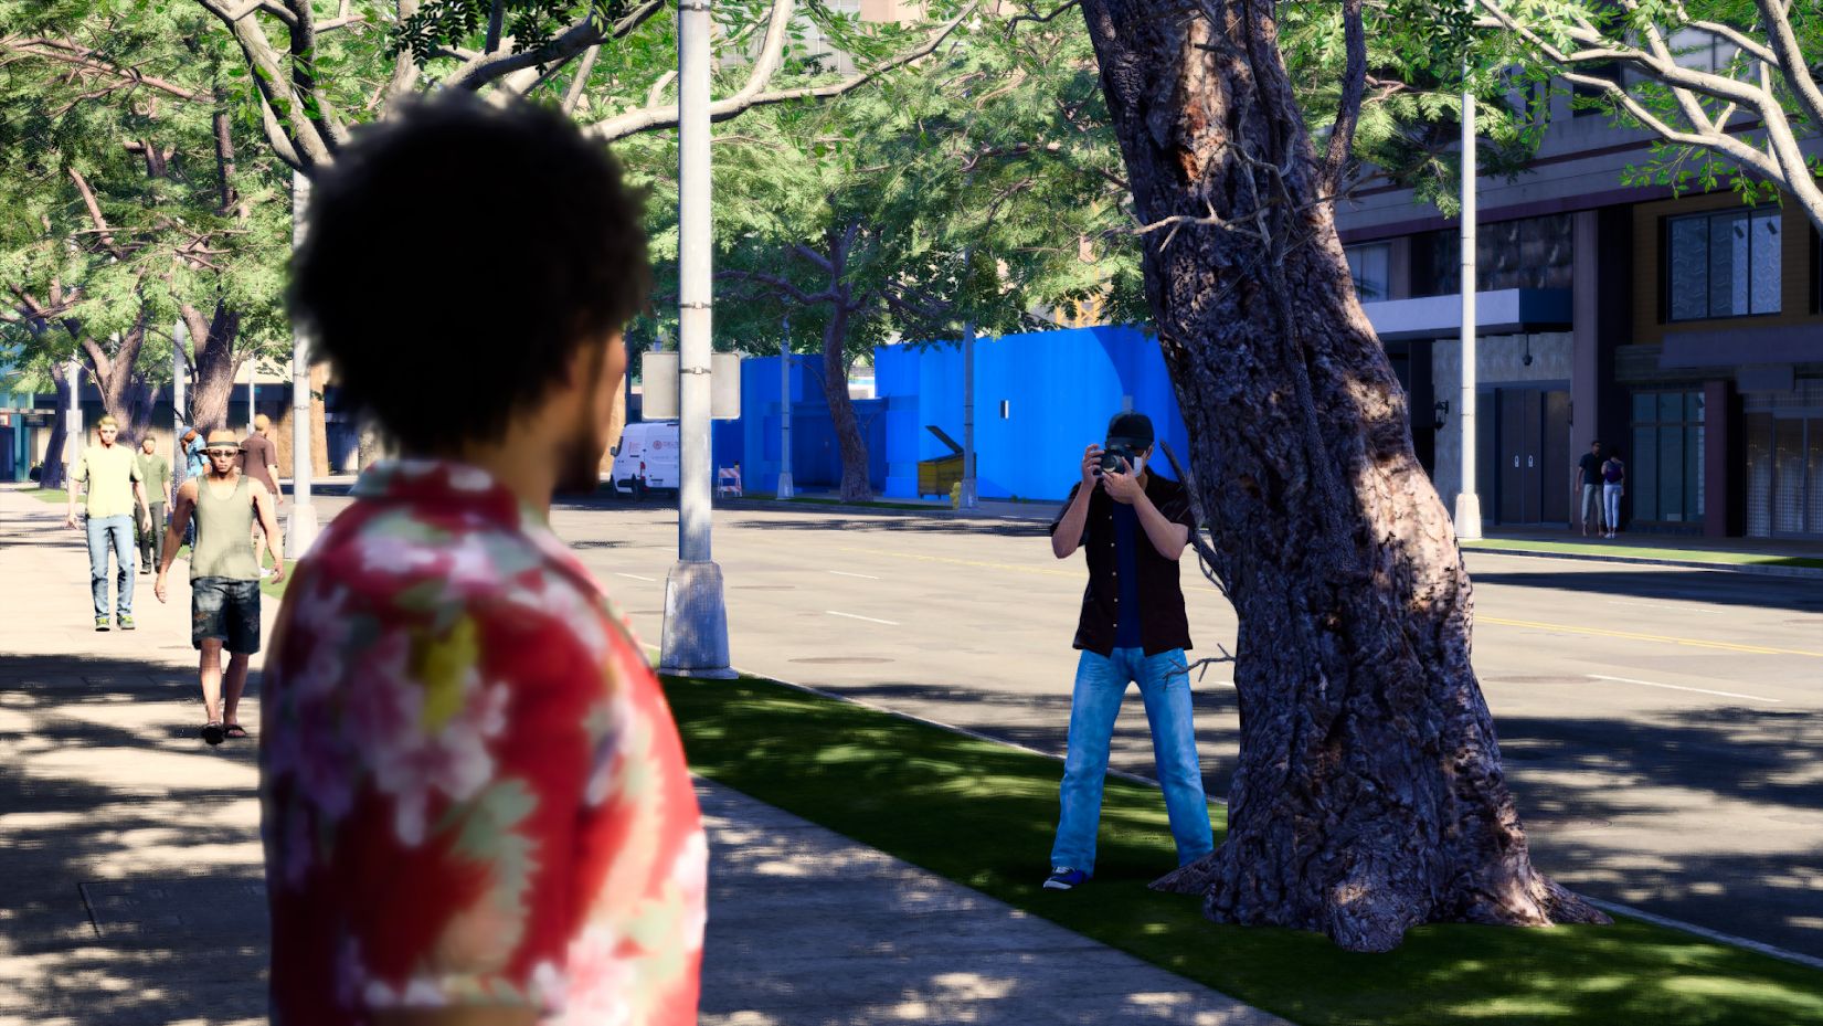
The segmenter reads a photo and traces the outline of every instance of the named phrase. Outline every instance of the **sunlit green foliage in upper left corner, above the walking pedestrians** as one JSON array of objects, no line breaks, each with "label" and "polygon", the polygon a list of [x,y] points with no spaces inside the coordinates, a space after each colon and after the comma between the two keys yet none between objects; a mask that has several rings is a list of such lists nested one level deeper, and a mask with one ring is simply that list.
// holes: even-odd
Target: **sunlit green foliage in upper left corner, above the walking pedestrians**
[{"label": "sunlit green foliage in upper left corner, above the walking pedestrians", "polygon": [[221,193],[213,118],[235,102],[239,66],[226,35],[190,5],[55,0],[0,2],[0,36],[66,47],[0,53],[0,292],[9,310],[64,297],[49,321],[13,324],[27,359],[67,359],[78,332],[104,341],[146,319],[140,368],[168,381],[179,303],[239,310],[244,350],[283,344],[284,177],[246,131],[232,129],[232,202]]}]

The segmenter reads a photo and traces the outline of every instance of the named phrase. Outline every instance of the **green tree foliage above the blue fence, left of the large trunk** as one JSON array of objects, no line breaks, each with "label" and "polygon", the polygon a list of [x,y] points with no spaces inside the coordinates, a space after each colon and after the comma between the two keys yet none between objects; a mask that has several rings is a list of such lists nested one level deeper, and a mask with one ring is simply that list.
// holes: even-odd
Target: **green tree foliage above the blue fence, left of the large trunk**
[{"label": "green tree foliage above the blue fence, left of the large trunk", "polygon": [[[815,73],[798,47],[789,62]],[[669,144],[622,153],[653,188],[671,282],[675,155]],[[715,193],[716,335],[735,348],[777,352],[786,315],[793,346],[817,348],[839,295],[853,306],[850,357],[893,337],[955,339],[964,321],[1030,328],[1110,288],[1128,313],[1139,308],[1119,153],[1076,20],[1008,33],[983,16],[915,71],[749,111],[716,135]],[[837,277],[828,261],[850,233]],[[1094,261],[1079,259],[1085,244]]]}]

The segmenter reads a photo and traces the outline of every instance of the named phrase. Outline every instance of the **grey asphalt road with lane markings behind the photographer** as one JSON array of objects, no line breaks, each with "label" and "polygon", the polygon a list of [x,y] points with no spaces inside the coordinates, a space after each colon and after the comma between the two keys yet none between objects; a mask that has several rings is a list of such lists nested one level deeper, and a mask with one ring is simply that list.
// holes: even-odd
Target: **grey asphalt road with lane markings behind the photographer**
[{"label": "grey asphalt road with lane markings behind the photographer", "polygon": [[[552,525],[656,643],[675,510]],[[1063,753],[1085,570],[1052,558],[1043,523],[718,510],[715,559],[738,669]],[[1484,552],[1469,570],[1475,665],[1537,862],[1823,957],[1823,581]],[[1200,652],[1232,647],[1221,594],[1189,565],[1185,585]],[[1212,667],[1196,687],[1216,796],[1236,756],[1227,682]],[[1114,767],[1152,775],[1132,691]]]}]

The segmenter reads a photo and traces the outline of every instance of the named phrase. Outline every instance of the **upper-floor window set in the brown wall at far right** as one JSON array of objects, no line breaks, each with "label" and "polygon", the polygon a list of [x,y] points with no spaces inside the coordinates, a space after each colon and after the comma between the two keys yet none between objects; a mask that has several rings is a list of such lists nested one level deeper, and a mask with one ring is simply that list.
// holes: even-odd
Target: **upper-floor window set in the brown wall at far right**
[{"label": "upper-floor window set in the brown wall at far right", "polygon": [[1664,312],[1672,321],[1779,312],[1779,210],[1675,217],[1664,226]]}]

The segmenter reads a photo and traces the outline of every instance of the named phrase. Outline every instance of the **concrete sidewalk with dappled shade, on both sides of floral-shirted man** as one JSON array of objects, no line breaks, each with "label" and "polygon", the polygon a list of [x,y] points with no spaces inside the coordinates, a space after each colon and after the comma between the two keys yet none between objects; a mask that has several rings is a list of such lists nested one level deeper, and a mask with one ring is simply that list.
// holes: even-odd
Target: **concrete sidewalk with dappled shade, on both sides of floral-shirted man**
[{"label": "concrete sidewalk with dappled shade, on both sides of floral-shirted man", "polygon": [[[188,587],[159,605],[139,583],[140,629],[95,632],[82,534],[0,487],[0,1026],[264,1021],[255,747],[197,738]],[[698,796],[706,1024],[1280,1022],[724,787]]]}]

